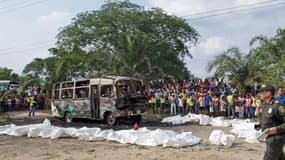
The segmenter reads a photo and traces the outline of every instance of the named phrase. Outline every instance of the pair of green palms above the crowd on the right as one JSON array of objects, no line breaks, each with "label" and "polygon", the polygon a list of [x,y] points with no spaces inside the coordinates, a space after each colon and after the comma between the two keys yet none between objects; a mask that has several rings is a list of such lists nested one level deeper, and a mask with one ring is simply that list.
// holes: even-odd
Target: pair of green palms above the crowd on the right
[{"label": "pair of green palms above the crowd on the right", "polygon": [[230,81],[240,90],[253,83],[284,85],[285,30],[278,29],[273,38],[256,36],[250,45],[255,47],[247,55],[237,48],[218,55],[208,63],[208,71],[214,70],[214,76],[218,77],[228,74]]}]

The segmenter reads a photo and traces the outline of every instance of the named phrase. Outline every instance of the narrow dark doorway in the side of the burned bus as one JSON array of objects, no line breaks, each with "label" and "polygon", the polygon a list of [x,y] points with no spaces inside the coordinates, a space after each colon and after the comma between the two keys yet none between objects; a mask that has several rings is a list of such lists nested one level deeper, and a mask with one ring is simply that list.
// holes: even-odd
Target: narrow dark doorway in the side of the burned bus
[{"label": "narrow dark doorway in the side of the burned bus", "polygon": [[100,99],[98,85],[91,86],[91,117],[100,118]]}]

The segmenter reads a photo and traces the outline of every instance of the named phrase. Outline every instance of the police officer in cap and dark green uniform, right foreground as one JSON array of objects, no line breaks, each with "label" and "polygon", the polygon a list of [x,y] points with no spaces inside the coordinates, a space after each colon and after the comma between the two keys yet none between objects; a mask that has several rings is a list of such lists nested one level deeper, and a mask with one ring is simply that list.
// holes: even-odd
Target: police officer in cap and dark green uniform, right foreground
[{"label": "police officer in cap and dark green uniform, right foreground", "polygon": [[260,89],[262,101],[260,125],[267,129],[266,151],[263,160],[285,160],[285,107],[274,100],[275,89],[272,85],[263,85]]}]

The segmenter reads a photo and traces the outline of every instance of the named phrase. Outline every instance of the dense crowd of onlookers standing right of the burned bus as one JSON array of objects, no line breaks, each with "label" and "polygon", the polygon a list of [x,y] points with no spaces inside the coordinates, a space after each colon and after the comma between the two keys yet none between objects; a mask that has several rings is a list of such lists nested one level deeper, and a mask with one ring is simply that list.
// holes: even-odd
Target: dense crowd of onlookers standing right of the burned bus
[{"label": "dense crowd of onlookers standing right of the burned bus", "polygon": [[[245,93],[241,93],[224,78],[150,84],[150,93],[146,93],[146,97],[154,114],[185,115],[191,112],[213,117],[255,119],[256,110],[261,105],[258,87],[249,87]],[[276,98],[284,103],[282,87],[279,87]]]}]

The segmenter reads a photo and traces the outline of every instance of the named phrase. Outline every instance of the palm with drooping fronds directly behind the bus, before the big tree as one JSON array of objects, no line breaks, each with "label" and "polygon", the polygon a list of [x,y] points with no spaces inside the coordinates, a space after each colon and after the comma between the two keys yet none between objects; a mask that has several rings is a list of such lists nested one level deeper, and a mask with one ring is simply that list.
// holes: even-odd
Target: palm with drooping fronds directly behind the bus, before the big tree
[{"label": "palm with drooping fronds directly behind the bus, before the big tree", "polygon": [[119,49],[113,59],[115,74],[144,78],[145,73],[151,72],[148,50],[150,37],[143,33],[136,33],[132,36],[127,33],[121,33],[116,41],[116,45]]}]

